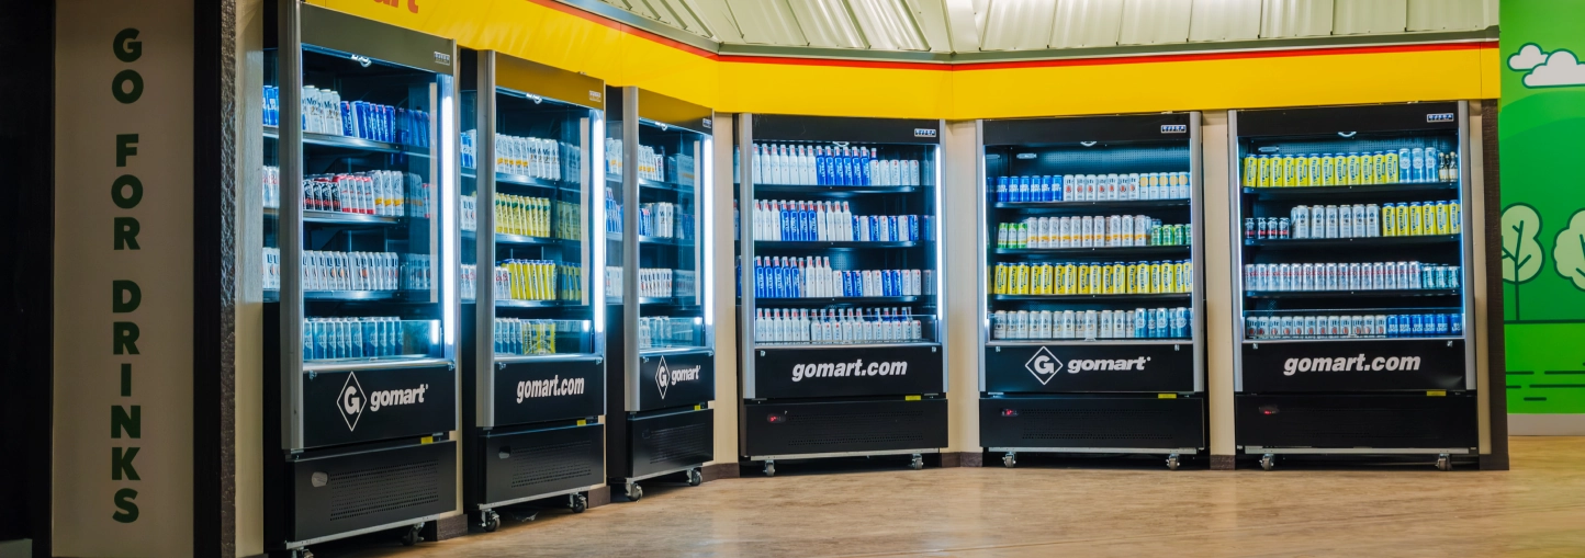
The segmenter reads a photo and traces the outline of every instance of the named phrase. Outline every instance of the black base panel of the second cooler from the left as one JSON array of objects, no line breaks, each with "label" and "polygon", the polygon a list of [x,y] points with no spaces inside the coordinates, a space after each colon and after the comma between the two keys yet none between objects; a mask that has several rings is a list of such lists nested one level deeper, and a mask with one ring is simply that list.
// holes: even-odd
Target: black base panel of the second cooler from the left
[{"label": "black base panel of the second cooler from the left", "polygon": [[468,509],[598,485],[605,479],[605,425],[476,431],[464,457]]}]

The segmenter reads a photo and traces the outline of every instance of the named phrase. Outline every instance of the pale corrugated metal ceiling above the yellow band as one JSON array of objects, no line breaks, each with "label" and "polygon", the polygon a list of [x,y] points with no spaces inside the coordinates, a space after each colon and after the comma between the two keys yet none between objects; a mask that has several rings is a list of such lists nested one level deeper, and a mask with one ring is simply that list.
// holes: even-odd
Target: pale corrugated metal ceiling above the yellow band
[{"label": "pale corrugated metal ceiling above the yellow band", "polygon": [[[563,0],[601,2],[723,46],[1019,52],[1471,32],[1498,0]],[[861,54],[861,52],[856,52]]]}]

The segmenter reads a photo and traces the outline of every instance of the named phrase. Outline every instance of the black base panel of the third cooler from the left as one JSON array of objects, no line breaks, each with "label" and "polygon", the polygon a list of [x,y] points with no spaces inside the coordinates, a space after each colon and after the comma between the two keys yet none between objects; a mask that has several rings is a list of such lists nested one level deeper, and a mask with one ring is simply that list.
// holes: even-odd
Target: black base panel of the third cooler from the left
[{"label": "black base panel of the third cooler from the left", "polygon": [[612,480],[644,477],[710,460],[715,460],[715,409],[637,414],[628,417],[628,463],[612,463],[610,476]]}]

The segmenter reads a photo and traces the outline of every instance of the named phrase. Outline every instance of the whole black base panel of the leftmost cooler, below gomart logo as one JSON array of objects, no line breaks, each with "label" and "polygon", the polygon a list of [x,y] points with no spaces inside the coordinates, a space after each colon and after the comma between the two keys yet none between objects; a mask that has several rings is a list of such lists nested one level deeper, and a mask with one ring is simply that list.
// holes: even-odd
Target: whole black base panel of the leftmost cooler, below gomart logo
[{"label": "whole black base panel of the leftmost cooler, below gomart logo", "polygon": [[[399,525],[456,509],[456,442],[357,447],[285,461],[285,541]],[[271,498],[266,495],[266,498]]]}]

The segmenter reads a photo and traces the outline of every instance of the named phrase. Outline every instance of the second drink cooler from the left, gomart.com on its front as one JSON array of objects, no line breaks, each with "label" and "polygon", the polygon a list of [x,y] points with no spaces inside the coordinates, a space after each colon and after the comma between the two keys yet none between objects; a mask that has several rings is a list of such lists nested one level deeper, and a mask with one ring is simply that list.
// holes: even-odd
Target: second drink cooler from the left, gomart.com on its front
[{"label": "second drink cooler from the left, gomart.com on its front", "polygon": [[[463,51],[463,506],[605,482],[605,84]],[[483,265],[480,265],[480,262]]]}]

